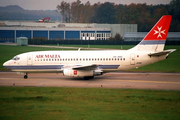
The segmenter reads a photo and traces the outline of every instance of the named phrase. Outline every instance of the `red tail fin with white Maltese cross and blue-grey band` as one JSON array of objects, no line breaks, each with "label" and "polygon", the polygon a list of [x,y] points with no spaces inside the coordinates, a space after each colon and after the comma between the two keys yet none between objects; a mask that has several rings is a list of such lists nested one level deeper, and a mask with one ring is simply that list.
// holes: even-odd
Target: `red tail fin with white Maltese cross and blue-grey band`
[{"label": "red tail fin with white Maltese cross and blue-grey band", "polygon": [[160,52],[164,50],[172,16],[164,15],[133,50]]}]

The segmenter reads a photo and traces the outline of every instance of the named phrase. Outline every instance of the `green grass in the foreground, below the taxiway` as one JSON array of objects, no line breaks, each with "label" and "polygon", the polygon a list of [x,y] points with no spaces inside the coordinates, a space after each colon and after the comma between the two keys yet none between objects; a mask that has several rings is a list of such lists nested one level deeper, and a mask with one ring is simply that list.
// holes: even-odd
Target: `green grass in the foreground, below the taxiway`
[{"label": "green grass in the foreground, below the taxiway", "polygon": [[0,87],[0,119],[177,120],[180,91]]}]

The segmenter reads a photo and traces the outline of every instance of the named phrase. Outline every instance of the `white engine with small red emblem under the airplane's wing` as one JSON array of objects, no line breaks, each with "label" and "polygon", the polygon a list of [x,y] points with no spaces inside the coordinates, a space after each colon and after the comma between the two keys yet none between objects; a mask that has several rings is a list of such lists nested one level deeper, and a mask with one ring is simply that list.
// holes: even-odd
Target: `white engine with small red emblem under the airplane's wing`
[{"label": "white engine with small red emblem under the airplane's wing", "polygon": [[63,70],[64,76],[71,76],[71,77],[86,77],[86,76],[97,76],[102,75],[101,70],[73,70],[73,69],[64,69]]}]

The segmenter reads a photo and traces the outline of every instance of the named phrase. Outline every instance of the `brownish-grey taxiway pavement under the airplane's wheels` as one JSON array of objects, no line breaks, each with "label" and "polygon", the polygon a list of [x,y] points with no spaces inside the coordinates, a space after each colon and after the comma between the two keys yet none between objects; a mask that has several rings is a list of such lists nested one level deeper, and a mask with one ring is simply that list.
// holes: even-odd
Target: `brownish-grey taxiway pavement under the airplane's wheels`
[{"label": "brownish-grey taxiway pavement under the airplane's wheels", "polygon": [[16,72],[0,72],[0,86],[83,87],[115,89],[180,90],[180,73],[107,73],[84,80],[62,73],[31,73],[28,79]]}]

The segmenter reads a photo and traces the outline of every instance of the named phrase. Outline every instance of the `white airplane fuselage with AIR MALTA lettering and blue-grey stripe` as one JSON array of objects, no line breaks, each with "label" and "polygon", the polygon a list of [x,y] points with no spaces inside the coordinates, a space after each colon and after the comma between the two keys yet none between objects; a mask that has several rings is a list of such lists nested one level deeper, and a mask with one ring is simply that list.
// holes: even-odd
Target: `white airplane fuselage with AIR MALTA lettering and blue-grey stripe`
[{"label": "white airplane fuselage with AIR MALTA lettering and blue-grey stripe", "polygon": [[62,72],[64,66],[97,65],[103,72],[128,70],[166,58],[148,56],[148,51],[38,51],[19,54],[18,60],[9,60],[4,66],[17,72]]}]

